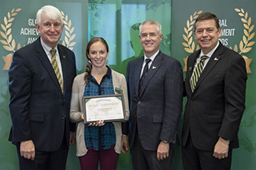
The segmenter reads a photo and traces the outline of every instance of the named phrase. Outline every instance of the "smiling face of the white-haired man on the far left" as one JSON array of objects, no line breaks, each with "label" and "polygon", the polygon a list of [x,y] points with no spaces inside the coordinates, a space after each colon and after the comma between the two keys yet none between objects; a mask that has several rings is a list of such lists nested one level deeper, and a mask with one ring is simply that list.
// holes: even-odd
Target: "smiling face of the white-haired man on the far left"
[{"label": "smiling face of the white-haired man on the far left", "polygon": [[41,14],[41,24],[40,26],[36,24],[38,33],[41,35],[42,41],[54,48],[58,40],[62,36],[64,25],[61,23],[60,19],[51,20],[46,17],[45,14]]}]

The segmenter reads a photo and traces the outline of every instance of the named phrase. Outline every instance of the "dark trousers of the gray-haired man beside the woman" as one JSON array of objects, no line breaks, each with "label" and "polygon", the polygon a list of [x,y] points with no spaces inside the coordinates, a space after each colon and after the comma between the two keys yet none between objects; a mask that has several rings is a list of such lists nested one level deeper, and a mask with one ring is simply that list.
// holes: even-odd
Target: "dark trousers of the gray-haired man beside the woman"
[{"label": "dark trousers of the gray-haired man beside the woman", "polygon": [[165,160],[158,160],[157,151],[144,149],[137,133],[134,145],[130,148],[130,154],[134,169],[170,169],[171,160],[174,156],[174,148],[170,148],[169,157]]}]

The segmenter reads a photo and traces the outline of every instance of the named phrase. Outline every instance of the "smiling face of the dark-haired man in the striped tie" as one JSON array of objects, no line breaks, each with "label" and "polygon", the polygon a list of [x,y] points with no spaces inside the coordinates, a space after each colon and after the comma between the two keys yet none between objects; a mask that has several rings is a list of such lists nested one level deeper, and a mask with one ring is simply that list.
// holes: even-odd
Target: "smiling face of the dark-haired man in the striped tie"
[{"label": "smiling face of the dark-haired man in the striped tie", "polygon": [[218,44],[222,29],[217,29],[214,19],[201,20],[196,22],[194,37],[203,53],[209,53]]}]

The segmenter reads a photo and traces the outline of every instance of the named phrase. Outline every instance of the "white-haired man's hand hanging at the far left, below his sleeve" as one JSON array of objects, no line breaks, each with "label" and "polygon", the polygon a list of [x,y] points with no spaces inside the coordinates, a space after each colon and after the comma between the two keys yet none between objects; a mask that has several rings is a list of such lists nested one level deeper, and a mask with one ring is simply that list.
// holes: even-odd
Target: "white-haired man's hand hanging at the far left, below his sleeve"
[{"label": "white-haired man's hand hanging at the far left, below his sleeve", "polygon": [[22,141],[20,147],[21,156],[25,157],[28,160],[34,160],[35,148],[34,142],[32,140]]}]

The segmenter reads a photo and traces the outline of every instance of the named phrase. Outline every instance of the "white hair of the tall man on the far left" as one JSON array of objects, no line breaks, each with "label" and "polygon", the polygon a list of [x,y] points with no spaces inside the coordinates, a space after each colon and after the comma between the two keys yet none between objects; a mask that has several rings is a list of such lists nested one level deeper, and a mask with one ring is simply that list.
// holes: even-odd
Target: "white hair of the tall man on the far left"
[{"label": "white hair of the tall man on the far left", "polygon": [[37,22],[36,22],[38,24],[38,26],[40,26],[40,24],[41,24],[42,14],[45,14],[46,17],[51,19],[51,20],[60,19],[61,24],[63,25],[62,14],[56,7],[54,7],[54,6],[42,6],[42,8],[40,10],[38,10]]}]

